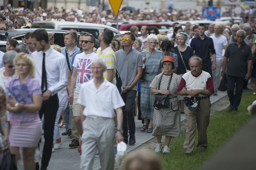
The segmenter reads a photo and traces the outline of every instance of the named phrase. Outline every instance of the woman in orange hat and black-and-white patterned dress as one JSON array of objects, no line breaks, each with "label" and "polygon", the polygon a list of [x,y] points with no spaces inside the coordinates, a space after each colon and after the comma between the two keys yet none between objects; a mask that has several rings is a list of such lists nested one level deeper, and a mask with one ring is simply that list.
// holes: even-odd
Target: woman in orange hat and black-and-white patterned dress
[{"label": "woman in orange hat and black-and-white patterned dress", "polygon": [[[180,137],[181,117],[179,99],[176,90],[180,83],[181,77],[172,72],[173,67],[173,57],[165,56],[162,61],[163,73],[158,74],[150,84],[150,92],[152,94],[169,95],[170,103],[170,106],[168,108],[154,108],[154,130],[152,135],[156,136],[157,138],[157,144],[155,146],[155,152],[157,153],[161,152],[161,138],[163,135],[165,135],[165,147],[162,149],[163,153],[169,153],[169,145],[172,137]],[[169,90],[167,90],[169,81],[171,81],[171,83]],[[159,83],[160,88],[158,89]]]}]

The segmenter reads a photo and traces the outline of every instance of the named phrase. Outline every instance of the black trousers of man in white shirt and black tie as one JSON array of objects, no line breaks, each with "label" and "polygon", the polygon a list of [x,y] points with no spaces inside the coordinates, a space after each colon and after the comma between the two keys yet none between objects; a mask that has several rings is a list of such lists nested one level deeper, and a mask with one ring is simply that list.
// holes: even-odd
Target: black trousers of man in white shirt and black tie
[{"label": "black trousers of man in white shirt and black tie", "polygon": [[43,101],[42,108],[39,111],[40,119],[44,114],[44,149],[42,156],[42,168],[47,168],[52,155],[54,124],[59,108],[58,95],[51,96]]}]

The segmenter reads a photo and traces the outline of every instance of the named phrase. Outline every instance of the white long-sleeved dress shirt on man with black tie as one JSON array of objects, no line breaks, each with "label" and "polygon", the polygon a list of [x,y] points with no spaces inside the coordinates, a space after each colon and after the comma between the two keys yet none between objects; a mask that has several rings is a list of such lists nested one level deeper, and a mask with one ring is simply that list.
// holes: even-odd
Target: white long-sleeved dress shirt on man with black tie
[{"label": "white long-sleeved dress shirt on man with black tie", "polygon": [[52,92],[52,95],[55,95],[68,85],[66,58],[52,47],[46,52],[35,51],[32,53],[31,58],[35,61],[35,78],[39,81],[40,86],[42,84],[43,53],[45,53],[47,89]]}]

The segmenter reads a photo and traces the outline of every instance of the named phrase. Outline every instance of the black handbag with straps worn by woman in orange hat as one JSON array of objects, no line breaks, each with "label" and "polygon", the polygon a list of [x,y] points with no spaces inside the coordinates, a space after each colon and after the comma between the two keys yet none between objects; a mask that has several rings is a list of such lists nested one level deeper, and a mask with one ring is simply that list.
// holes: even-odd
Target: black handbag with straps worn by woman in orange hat
[{"label": "black handbag with straps worn by woman in orange hat", "polygon": [[[171,84],[171,81],[172,81],[172,75],[171,75],[167,90],[169,90],[169,87],[170,87],[170,84]],[[159,84],[158,84],[158,90],[160,90],[160,84],[161,84],[162,78],[163,78],[163,73],[161,75],[161,78],[160,78],[160,81],[159,81]],[[155,102],[154,102],[155,109],[159,110],[161,108],[168,108],[169,106],[170,106],[170,104],[169,104],[169,95],[155,94]]]}]

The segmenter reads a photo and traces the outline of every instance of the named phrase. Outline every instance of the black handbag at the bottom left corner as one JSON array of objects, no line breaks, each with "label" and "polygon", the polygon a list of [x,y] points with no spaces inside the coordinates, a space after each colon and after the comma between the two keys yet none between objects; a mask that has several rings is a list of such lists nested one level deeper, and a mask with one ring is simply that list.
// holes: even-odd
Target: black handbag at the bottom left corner
[{"label": "black handbag at the bottom left corner", "polygon": [[11,154],[9,149],[3,151],[3,159],[0,164],[0,170],[16,170],[15,155]]}]

